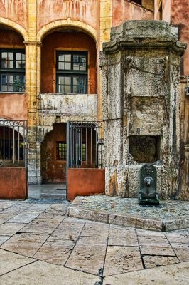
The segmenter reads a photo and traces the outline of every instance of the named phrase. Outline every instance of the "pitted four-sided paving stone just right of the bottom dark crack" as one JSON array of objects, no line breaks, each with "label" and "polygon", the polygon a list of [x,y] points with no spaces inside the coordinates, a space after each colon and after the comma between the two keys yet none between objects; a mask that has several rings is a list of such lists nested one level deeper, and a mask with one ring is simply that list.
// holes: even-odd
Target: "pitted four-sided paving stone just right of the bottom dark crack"
[{"label": "pitted four-sided paving stone just right of the bottom dark crack", "polygon": [[139,247],[107,247],[104,276],[143,269]]}]

